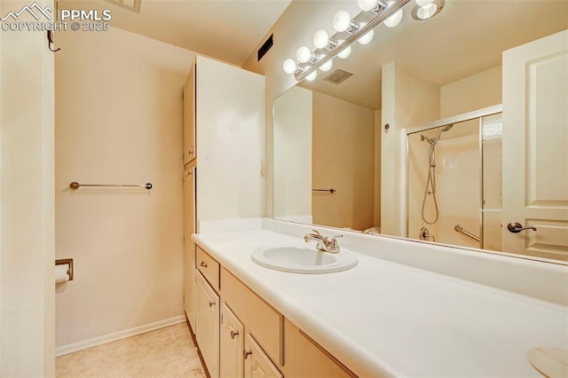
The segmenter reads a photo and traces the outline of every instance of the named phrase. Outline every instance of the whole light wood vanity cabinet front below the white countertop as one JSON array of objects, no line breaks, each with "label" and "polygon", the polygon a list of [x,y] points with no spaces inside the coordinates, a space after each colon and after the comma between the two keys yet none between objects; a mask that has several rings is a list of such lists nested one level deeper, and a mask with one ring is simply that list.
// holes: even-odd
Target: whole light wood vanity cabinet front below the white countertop
[{"label": "whole light wood vanity cabinet front below the white countertop", "polygon": [[356,376],[207,251],[195,251],[197,343],[211,376]]}]

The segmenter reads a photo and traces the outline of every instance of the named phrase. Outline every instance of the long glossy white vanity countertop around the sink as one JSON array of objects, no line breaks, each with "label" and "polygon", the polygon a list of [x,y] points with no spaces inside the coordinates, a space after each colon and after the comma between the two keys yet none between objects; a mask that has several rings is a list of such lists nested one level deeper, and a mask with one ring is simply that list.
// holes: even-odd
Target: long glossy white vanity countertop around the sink
[{"label": "long glossy white vanity countertop around the sink", "polygon": [[540,376],[529,350],[568,349],[560,304],[367,254],[344,272],[274,271],[252,251],[298,238],[269,230],[193,240],[361,377]]}]

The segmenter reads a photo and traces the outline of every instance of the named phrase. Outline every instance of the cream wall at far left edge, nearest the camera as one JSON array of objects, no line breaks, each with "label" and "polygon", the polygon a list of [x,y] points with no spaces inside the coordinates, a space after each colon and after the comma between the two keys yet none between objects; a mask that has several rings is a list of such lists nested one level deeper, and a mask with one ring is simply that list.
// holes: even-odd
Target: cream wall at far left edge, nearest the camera
[{"label": "cream wall at far left edge, nearest the camera", "polygon": [[[0,14],[26,4],[2,1]],[[0,33],[3,377],[55,375],[53,69],[43,33]]]}]

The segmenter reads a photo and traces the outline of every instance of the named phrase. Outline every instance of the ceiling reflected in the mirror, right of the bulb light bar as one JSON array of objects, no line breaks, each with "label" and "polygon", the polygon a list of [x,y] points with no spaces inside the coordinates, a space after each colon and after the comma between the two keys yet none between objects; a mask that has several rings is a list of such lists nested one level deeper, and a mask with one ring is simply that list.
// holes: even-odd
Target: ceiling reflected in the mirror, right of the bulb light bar
[{"label": "ceiling reflected in the mirror, right of the bulb light bar", "polygon": [[[301,5],[301,4],[295,4]],[[372,43],[355,43],[349,59],[334,67],[353,75],[340,84],[322,79],[301,86],[371,109],[381,108],[381,67],[395,61],[422,80],[439,86],[501,65],[501,52],[568,28],[568,0],[446,0],[430,20],[410,16],[404,7],[397,28],[379,25]],[[339,10],[339,8],[337,9]],[[352,12],[351,14],[356,14]],[[333,31],[329,25],[314,25]]]}]

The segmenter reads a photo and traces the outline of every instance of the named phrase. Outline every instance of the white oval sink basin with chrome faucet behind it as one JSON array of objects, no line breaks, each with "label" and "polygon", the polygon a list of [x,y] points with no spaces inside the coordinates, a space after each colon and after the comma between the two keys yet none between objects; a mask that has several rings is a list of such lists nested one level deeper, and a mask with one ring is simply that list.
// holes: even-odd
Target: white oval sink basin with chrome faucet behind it
[{"label": "white oval sink basin with chrome faucet behind it", "polygon": [[265,268],[293,273],[341,272],[358,264],[357,257],[348,251],[332,254],[307,245],[257,248],[250,257]]}]

